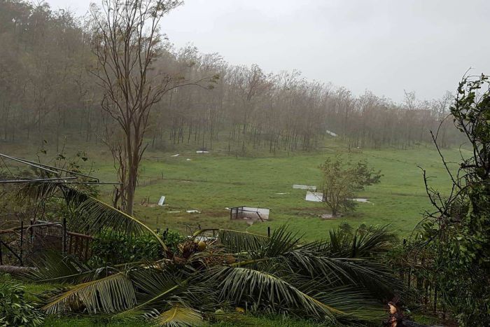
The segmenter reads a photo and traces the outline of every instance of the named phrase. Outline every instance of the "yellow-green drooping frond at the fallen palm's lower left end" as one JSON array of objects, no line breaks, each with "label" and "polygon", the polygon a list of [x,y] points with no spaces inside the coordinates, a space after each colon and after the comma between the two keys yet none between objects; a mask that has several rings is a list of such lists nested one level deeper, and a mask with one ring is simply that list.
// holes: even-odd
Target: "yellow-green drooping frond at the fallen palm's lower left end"
[{"label": "yellow-green drooping frond at the fallen palm's lower left end", "polygon": [[77,312],[86,309],[90,314],[114,313],[136,303],[134,287],[124,272],[102,279],[87,281],[48,300],[41,309],[47,314]]}]

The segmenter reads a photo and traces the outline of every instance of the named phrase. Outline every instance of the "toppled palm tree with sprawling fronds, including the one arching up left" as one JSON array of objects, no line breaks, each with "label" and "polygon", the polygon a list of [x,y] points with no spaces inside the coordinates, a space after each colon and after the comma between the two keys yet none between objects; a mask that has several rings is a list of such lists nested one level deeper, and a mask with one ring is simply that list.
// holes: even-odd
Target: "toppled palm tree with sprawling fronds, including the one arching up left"
[{"label": "toppled palm tree with sprawling fronds, including the one arching up left", "polygon": [[[30,183],[24,194],[41,198],[61,191],[73,209],[70,223],[90,232],[126,235],[148,232],[132,216],[64,184]],[[36,269],[19,274],[36,282],[62,283],[43,294],[48,314],[112,314],[115,319],[145,317],[156,326],[197,326],[204,321],[238,319],[236,311],[288,314],[318,321],[379,324],[381,304],[401,291],[400,281],[380,263],[393,244],[386,226],[353,235],[302,241],[286,226],[270,237],[217,230],[205,249],[195,232],[176,253],[153,262],[91,267],[71,256],[47,253]]]}]

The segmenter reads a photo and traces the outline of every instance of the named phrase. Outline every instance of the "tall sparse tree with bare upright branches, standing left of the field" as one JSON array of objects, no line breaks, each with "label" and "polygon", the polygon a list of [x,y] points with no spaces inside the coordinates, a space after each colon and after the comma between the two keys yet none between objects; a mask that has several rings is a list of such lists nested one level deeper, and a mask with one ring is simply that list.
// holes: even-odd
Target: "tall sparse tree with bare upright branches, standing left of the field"
[{"label": "tall sparse tree with bare upright branches, standing left of the field", "polygon": [[[90,8],[91,46],[97,58],[92,74],[104,91],[105,143],[113,155],[120,186],[114,204],[132,214],[138,169],[147,144],[144,136],[154,104],[183,85],[199,85],[218,78],[187,81],[172,71],[155,71],[164,48],[160,21],[180,6],[176,0],[104,0]],[[110,122],[116,122],[114,129]]]}]

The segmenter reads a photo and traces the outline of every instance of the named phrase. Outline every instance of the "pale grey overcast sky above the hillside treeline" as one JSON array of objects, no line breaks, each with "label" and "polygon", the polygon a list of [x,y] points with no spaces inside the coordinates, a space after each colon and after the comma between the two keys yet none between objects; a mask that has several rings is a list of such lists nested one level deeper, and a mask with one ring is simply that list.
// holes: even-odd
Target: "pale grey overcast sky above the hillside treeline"
[{"label": "pale grey overcast sky above the hillside treeline", "polygon": [[[97,1],[48,3],[83,15]],[[162,27],[177,47],[395,101],[440,97],[470,67],[490,74],[489,0],[186,0]]]}]

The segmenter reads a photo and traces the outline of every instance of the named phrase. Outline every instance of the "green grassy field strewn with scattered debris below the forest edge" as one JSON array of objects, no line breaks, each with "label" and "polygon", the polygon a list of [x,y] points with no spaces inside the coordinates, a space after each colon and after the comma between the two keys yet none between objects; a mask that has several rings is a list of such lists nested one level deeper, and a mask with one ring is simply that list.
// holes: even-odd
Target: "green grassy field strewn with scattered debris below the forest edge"
[{"label": "green grassy field strewn with scattered debris below the forest edge", "polygon": [[[93,161],[94,176],[102,181],[115,181],[112,158],[105,148],[82,144],[68,148],[68,152],[84,147]],[[10,150],[10,153],[32,158],[29,155],[29,151],[33,153],[32,149],[9,148],[6,152]],[[461,151],[465,155],[465,150]],[[50,153],[54,155],[52,151]],[[176,153],[180,155],[172,157]],[[360,203],[352,213],[322,220],[319,215],[328,213],[329,209],[321,202],[305,201],[306,191],[293,189],[292,185],[321,187],[318,165],[326,157],[337,154],[350,156],[352,160],[367,160],[374,169],[381,169],[384,176],[381,183],[358,194],[358,197],[367,197],[372,204]],[[430,209],[422,172],[417,166],[433,176],[431,183],[435,188],[444,191],[450,186],[440,158],[431,145],[408,150],[383,148],[348,152],[342,142],[330,140],[325,148],[314,153],[253,155],[239,157],[219,150],[197,154],[190,148],[176,152],[148,151],[140,169],[134,215],[152,228],[181,232],[200,226],[266,233],[268,226],[274,229],[288,224],[306,239],[318,239],[325,237],[328,229],[347,221],[354,226],[389,223],[400,236],[406,237],[420,221],[421,213]],[[447,149],[444,155],[449,161],[460,161],[458,148]],[[106,200],[110,193],[110,186],[102,187],[102,197]],[[166,197],[165,207],[155,205],[161,195]],[[148,199],[148,203],[142,204]],[[230,221],[229,211],[225,208],[241,205],[271,209],[269,221],[250,226],[245,221]],[[190,209],[201,213],[188,214],[186,210]]]}]

